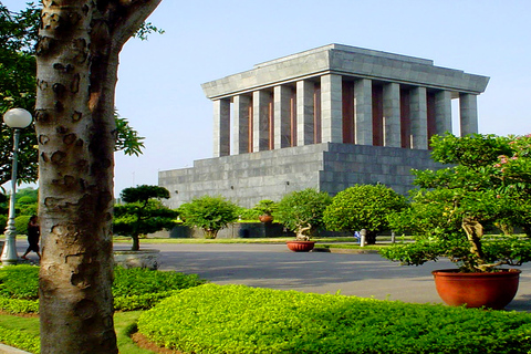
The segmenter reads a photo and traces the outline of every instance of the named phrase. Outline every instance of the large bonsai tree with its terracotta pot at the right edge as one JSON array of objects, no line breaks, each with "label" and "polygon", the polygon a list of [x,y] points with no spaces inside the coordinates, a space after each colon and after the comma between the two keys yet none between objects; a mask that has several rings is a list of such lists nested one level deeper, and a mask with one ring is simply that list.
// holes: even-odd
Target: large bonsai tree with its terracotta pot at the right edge
[{"label": "large bonsai tree with its terracotta pot at the right edge", "polygon": [[[531,137],[446,135],[431,139],[433,158],[450,167],[415,170],[410,207],[391,218],[410,231],[413,243],[382,256],[419,266],[445,257],[457,269],[434,271],[436,288],[450,305],[503,309],[516,295],[521,266],[531,260]],[[521,227],[527,237],[486,235],[486,227]]]}]

